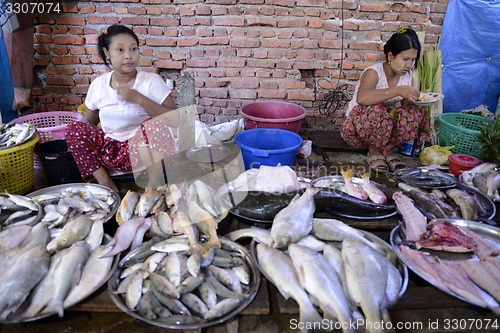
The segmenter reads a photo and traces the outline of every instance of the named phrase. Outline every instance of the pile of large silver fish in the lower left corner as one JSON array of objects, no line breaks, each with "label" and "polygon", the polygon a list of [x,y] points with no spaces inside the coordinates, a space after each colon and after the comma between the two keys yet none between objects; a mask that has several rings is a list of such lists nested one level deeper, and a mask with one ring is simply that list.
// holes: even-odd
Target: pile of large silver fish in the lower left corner
[{"label": "pile of large silver fish in the lower left corner", "polygon": [[109,278],[114,259],[102,258],[103,243],[103,220],[84,215],[50,229],[43,221],[3,229],[0,320],[62,317]]}]

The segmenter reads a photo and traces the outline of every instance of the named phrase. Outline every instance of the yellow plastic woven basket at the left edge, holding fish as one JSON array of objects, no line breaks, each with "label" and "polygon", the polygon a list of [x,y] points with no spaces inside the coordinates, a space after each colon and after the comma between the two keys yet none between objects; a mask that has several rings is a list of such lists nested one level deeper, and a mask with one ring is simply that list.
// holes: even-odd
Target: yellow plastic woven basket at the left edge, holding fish
[{"label": "yellow plastic woven basket at the left edge, holding fish", "polygon": [[25,194],[34,183],[34,148],[38,136],[18,146],[0,150],[0,191]]}]

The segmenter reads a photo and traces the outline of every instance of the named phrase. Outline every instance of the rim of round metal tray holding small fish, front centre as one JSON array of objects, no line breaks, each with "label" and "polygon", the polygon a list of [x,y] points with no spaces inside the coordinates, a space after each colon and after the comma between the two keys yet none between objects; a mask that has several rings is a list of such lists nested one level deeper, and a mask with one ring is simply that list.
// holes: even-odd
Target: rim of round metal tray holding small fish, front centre
[{"label": "rim of round metal tray holding small fish, front centre", "polygon": [[122,270],[124,269],[124,267],[122,267],[122,265],[127,260],[130,260],[131,258],[133,258],[138,252],[140,252],[142,250],[142,246],[145,246],[145,245],[142,245],[142,246],[138,247],[137,249],[128,253],[120,261],[120,264],[118,264],[117,269],[115,270],[115,272],[113,273],[113,275],[111,276],[111,278],[108,281],[108,290],[109,290],[109,294],[111,295],[111,299],[120,308],[120,310],[122,310],[126,314],[128,314],[136,319],[139,319],[143,322],[146,322],[150,325],[154,325],[154,326],[158,326],[158,327],[162,327],[162,328],[167,328],[167,329],[199,330],[199,329],[202,329],[205,327],[222,324],[222,323],[230,320],[231,318],[238,315],[241,311],[243,311],[253,301],[253,299],[255,298],[255,295],[257,295],[257,292],[259,291],[259,288],[260,288],[261,276],[260,276],[259,270],[255,266],[255,264],[250,256],[250,252],[244,246],[242,246],[238,243],[232,242],[224,237],[219,237],[219,239],[220,239],[221,243],[226,244],[229,247],[231,247],[232,249],[237,250],[242,255],[242,258],[246,261],[246,263],[248,264],[248,267],[250,268],[250,271],[251,271],[251,281],[250,281],[249,287],[245,290],[246,295],[247,295],[246,300],[242,304],[240,304],[240,306],[238,306],[236,309],[234,309],[232,312],[226,314],[225,316],[216,318],[216,319],[211,320],[211,321],[206,321],[206,322],[200,323],[200,324],[172,325],[172,324],[167,324],[167,323],[160,322],[160,321],[146,319],[146,318],[142,317],[139,313],[130,310],[127,307],[127,305],[125,304],[123,298],[120,295],[117,295],[115,293],[115,291],[118,288],[118,285],[120,282],[120,274],[122,273]]}]

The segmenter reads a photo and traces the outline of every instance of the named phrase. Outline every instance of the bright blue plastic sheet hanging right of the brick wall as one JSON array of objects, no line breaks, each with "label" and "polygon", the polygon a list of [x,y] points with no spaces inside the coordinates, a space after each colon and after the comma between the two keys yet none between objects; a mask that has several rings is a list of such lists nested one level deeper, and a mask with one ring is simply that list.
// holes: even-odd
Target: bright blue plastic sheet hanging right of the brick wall
[{"label": "bright blue plastic sheet hanging right of the brick wall", "polygon": [[485,104],[495,111],[500,94],[500,1],[448,2],[443,51],[444,112]]}]

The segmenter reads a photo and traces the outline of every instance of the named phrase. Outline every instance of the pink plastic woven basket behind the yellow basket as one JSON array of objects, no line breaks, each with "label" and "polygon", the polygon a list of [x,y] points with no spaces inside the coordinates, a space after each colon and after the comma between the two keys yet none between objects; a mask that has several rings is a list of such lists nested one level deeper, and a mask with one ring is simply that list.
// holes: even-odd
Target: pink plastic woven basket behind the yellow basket
[{"label": "pink plastic woven basket behind the yellow basket", "polygon": [[[80,121],[83,115],[77,112],[53,111],[38,112],[11,120],[11,123],[31,123],[35,126],[40,143],[52,140],[64,140],[68,124]],[[35,154],[35,169],[42,169],[42,164]]]}]

